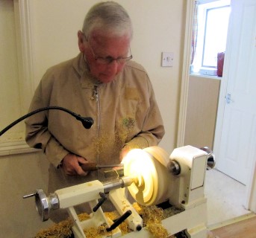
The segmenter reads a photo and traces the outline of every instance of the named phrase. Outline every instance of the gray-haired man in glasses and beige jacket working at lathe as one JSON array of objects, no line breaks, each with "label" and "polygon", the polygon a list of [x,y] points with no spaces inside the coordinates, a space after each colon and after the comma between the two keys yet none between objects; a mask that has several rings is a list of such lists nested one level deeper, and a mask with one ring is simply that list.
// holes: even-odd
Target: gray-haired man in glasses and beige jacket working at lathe
[{"label": "gray-haired man in glasses and beige jacket working at lathe", "polygon": [[81,164],[117,164],[129,149],[157,145],[164,135],[154,91],[145,69],[132,62],[131,19],[113,1],[93,6],[78,31],[77,57],[55,65],[40,81],[30,111],[62,106],[92,117],[91,129],[58,110],[26,123],[26,141],[50,161],[49,192],[92,179],[101,170]]}]

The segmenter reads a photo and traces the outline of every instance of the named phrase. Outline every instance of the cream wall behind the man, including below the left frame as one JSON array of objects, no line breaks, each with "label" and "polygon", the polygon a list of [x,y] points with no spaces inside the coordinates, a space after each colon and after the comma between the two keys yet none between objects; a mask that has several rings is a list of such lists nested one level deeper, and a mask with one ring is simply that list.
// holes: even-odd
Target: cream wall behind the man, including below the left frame
[{"label": "cream wall behind the man, including below the left frame", "polygon": [[[93,0],[29,0],[34,85],[47,68],[78,54],[76,33]],[[160,146],[168,152],[176,144],[186,1],[119,0],[134,24],[131,51],[149,72],[166,135]],[[160,67],[162,51],[174,53],[172,68]],[[1,79],[0,79],[1,80]],[[40,222],[34,199],[22,196],[46,189],[47,163],[40,153],[0,156],[0,230],[5,237],[32,237],[47,227]]]}]

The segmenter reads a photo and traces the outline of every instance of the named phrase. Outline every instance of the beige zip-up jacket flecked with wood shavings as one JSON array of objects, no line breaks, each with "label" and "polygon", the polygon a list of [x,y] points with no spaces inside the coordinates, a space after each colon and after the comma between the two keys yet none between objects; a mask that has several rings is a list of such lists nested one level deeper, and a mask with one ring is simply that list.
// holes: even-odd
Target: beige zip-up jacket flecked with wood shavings
[{"label": "beige zip-up jacket flecked with wood shavings", "polygon": [[136,62],[127,62],[111,83],[91,77],[82,54],[55,65],[40,81],[30,112],[46,106],[62,106],[94,120],[91,129],[84,129],[59,110],[25,120],[27,143],[42,148],[54,167],[69,152],[99,164],[116,164],[123,147],[154,146],[164,135],[152,84]]}]

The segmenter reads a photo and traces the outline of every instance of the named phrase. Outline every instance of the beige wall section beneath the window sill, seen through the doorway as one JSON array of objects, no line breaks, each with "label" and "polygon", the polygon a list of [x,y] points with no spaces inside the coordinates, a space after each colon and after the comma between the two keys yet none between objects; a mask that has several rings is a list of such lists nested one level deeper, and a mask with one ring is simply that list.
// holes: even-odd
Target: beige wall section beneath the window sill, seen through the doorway
[{"label": "beige wall section beneath the window sill, seen through the doorway", "polygon": [[184,145],[213,149],[221,78],[190,75]]}]

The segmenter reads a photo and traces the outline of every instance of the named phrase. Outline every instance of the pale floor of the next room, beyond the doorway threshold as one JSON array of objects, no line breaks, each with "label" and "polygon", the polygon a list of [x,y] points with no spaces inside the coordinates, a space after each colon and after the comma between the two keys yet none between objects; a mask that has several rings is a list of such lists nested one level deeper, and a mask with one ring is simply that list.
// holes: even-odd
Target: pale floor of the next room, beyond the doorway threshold
[{"label": "pale floor of the next room, beyond the doorway threshold", "polygon": [[218,170],[207,170],[205,179],[208,227],[246,216],[251,212],[243,207],[246,186]]}]

